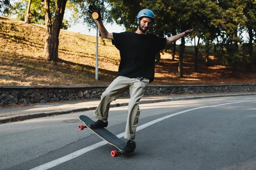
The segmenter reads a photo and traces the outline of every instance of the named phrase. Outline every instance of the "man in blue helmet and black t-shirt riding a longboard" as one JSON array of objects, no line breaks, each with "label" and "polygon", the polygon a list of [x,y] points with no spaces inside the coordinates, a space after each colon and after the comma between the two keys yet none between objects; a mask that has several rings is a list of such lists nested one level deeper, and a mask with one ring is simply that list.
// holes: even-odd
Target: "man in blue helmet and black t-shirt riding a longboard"
[{"label": "man in blue helmet and black t-shirt riding a longboard", "polygon": [[131,98],[124,136],[128,142],[123,150],[125,153],[131,153],[136,148],[135,132],[140,116],[140,99],[148,83],[154,80],[155,54],[164,49],[165,44],[187,37],[193,29],[167,39],[146,33],[154,22],[154,13],[149,9],[143,9],[137,15],[137,31],[109,33],[103,25],[100,11],[94,3],[89,6],[88,12],[97,20],[102,37],[112,40],[112,44],[120,51],[121,57],[118,77],[102,94],[101,102],[93,114],[99,120],[90,124],[89,127],[107,127],[110,103],[129,89]]}]

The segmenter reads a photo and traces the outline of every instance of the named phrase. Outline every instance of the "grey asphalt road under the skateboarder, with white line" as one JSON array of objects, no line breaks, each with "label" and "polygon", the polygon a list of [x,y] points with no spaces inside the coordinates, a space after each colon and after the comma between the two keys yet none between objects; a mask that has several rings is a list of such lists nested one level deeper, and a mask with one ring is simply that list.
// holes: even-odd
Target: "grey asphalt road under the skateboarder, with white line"
[{"label": "grey asphalt road under the skateboarder, with white line", "polygon": [[[123,136],[128,107],[111,108],[108,130]],[[110,155],[80,115],[0,125],[0,169],[256,170],[256,97],[233,96],[140,105],[134,153]],[[126,142],[126,139],[121,137]]]}]

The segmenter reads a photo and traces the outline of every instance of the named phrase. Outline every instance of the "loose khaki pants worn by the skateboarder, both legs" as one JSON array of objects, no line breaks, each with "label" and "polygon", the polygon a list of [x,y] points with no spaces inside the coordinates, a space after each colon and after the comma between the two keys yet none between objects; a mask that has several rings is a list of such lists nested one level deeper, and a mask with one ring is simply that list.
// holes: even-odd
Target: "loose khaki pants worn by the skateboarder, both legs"
[{"label": "loose khaki pants worn by the skateboarder, both legs", "polygon": [[140,99],[144,95],[148,82],[149,79],[140,81],[123,76],[117,77],[103,92],[101,101],[93,116],[100,120],[108,120],[110,103],[129,89],[131,98],[128,105],[128,118],[124,137],[126,139],[135,139],[135,132],[140,116]]}]

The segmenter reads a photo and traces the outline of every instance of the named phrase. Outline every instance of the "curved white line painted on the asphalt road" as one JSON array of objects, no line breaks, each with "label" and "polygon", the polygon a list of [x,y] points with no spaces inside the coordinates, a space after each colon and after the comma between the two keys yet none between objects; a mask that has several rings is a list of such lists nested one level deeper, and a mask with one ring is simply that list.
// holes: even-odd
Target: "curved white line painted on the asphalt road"
[{"label": "curved white line painted on the asphalt road", "polygon": [[[164,117],[161,117],[159,119],[153,120],[151,122],[145,123],[143,125],[140,125],[140,126],[137,127],[136,131],[142,130],[142,129],[150,126],[150,125],[154,125],[155,123],[160,122],[160,121],[162,121],[164,119],[168,119],[168,118],[170,118],[172,116],[176,116],[176,115],[179,115],[179,114],[182,114],[182,113],[186,113],[186,112],[189,112],[189,111],[194,111],[194,110],[198,110],[198,109],[202,109],[202,108],[217,107],[217,106],[222,106],[222,105],[231,105],[231,104],[243,103],[243,102],[256,102],[256,100],[247,100],[247,101],[240,101],[240,102],[223,103],[223,104],[219,104],[219,105],[204,106],[204,107],[200,107],[200,108],[188,109],[186,111],[180,111],[180,112],[177,112],[177,113],[174,113],[174,114],[170,114],[168,116],[164,116]],[[124,134],[125,133],[123,132],[123,133],[120,133],[120,134],[118,134],[116,136],[118,138],[122,138],[124,136]],[[84,147],[83,149],[80,149],[80,150],[78,150],[76,152],[70,153],[70,154],[68,154],[66,156],[63,156],[63,157],[61,157],[59,159],[55,159],[55,160],[50,161],[50,162],[48,162],[46,164],[42,164],[42,165],[40,165],[38,167],[35,167],[35,168],[31,169],[31,170],[47,170],[47,169],[49,169],[51,167],[55,167],[58,164],[61,164],[61,163],[64,163],[66,161],[69,161],[71,159],[74,159],[74,158],[76,158],[76,157],[78,157],[78,156],[80,156],[80,155],[82,155],[84,153],[89,152],[90,150],[96,149],[96,148],[101,147],[101,146],[103,146],[105,144],[107,144],[107,142],[105,142],[105,141],[98,142],[98,143],[90,145],[88,147]]]}]

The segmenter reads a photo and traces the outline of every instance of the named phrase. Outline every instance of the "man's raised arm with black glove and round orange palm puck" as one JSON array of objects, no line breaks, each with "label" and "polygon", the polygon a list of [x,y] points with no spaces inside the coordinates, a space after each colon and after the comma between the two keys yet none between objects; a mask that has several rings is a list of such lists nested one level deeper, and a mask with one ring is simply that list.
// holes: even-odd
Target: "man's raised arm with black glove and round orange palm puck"
[{"label": "man's raised arm with black glove and round orange palm puck", "polygon": [[92,15],[92,17],[95,20],[97,20],[99,31],[102,34],[102,37],[113,40],[113,33],[109,33],[102,23],[102,17],[100,14],[100,10],[96,7],[96,5],[94,3],[90,4],[90,6],[88,8],[89,9],[87,10],[87,12],[89,12]]}]

